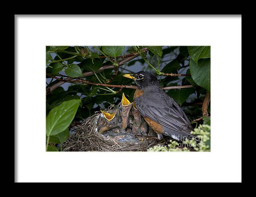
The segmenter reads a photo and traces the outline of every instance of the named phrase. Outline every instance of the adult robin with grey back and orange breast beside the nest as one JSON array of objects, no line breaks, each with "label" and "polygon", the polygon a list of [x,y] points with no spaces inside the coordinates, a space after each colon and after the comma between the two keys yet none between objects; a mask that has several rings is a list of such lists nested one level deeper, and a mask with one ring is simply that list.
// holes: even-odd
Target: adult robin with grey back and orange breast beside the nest
[{"label": "adult robin with grey back and orange breast beside the nest", "polygon": [[137,84],[134,103],[148,125],[157,133],[158,139],[163,135],[184,141],[196,137],[190,121],[180,106],[160,87],[157,77],[148,71],[125,74]]}]

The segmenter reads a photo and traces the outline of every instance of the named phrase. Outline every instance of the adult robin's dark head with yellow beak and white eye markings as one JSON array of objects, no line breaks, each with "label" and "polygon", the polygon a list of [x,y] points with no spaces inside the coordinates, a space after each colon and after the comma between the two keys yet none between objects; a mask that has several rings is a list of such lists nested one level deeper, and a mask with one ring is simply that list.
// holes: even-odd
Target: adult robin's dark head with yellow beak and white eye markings
[{"label": "adult robin's dark head with yellow beak and white eye markings", "polygon": [[152,72],[139,71],[135,74],[125,74],[124,77],[131,78],[137,83],[137,87],[142,89],[150,85],[159,85],[157,76]]}]

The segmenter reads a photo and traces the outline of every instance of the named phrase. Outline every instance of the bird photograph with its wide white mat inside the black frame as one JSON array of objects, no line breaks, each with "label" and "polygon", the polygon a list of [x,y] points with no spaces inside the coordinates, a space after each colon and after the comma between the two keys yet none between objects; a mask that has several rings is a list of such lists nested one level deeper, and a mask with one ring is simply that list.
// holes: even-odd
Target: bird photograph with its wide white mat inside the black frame
[{"label": "bird photograph with its wide white mat inside the black frame", "polygon": [[241,15],[15,15],[15,182],[241,182]]}]

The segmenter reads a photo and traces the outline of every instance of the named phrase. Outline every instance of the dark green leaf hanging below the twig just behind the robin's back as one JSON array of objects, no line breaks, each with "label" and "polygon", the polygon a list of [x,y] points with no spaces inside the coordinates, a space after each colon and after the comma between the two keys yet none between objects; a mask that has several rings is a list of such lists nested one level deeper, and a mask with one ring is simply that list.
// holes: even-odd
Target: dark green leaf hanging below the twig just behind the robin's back
[{"label": "dark green leaf hanging below the twig just behind the robin's back", "polygon": [[168,94],[171,96],[177,104],[180,106],[186,101],[186,99],[191,95],[192,93],[195,93],[195,89],[193,88],[183,88],[180,90],[169,90]]}]

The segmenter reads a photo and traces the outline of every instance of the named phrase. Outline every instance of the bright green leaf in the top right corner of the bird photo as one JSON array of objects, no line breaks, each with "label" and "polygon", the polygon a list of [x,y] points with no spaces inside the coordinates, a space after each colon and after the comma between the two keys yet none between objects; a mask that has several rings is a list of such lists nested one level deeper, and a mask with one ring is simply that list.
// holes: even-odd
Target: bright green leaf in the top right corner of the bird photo
[{"label": "bright green leaf in the top right corner of the bird photo", "polygon": [[210,46],[188,46],[189,55],[195,64],[198,65],[198,60],[201,58],[210,58]]}]

